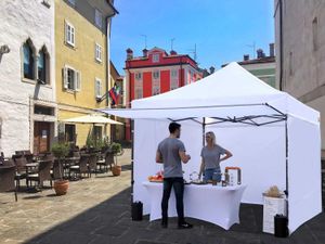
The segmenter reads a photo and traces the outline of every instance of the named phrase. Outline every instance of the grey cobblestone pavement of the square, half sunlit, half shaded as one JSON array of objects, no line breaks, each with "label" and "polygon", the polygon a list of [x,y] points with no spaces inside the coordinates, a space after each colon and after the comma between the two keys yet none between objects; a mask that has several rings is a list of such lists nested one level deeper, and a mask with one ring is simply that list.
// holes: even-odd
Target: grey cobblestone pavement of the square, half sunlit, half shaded
[{"label": "grey cobblestone pavement of the square, half sunlit, half shaded", "polygon": [[37,193],[0,193],[0,243],[60,244],[324,244],[325,215],[300,227],[290,237],[262,233],[262,207],[242,205],[240,224],[230,231],[188,219],[192,230],[168,229],[159,221],[132,221],[130,214],[130,150],[119,158],[122,172],[110,172],[73,181],[68,193],[56,196],[51,189]]}]

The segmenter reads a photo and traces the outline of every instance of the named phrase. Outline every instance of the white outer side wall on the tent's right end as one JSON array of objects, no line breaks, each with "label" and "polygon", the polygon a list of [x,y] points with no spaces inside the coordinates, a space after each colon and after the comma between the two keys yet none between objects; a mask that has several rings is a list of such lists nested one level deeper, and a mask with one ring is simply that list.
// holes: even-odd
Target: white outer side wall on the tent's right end
[{"label": "white outer side wall on the tent's right end", "polygon": [[288,118],[289,231],[322,211],[320,125]]}]

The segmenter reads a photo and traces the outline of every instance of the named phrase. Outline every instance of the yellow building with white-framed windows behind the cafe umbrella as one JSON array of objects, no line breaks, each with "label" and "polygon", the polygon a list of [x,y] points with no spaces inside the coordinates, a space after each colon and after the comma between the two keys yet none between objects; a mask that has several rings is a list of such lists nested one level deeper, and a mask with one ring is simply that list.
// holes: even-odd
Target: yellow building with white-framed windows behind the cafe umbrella
[{"label": "yellow building with white-framed windows behind the cafe umbrella", "polygon": [[[64,119],[108,105],[110,0],[55,0],[55,69],[58,139],[82,146],[89,134],[109,136],[109,125],[67,124]],[[109,36],[109,35],[108,35]]]}]

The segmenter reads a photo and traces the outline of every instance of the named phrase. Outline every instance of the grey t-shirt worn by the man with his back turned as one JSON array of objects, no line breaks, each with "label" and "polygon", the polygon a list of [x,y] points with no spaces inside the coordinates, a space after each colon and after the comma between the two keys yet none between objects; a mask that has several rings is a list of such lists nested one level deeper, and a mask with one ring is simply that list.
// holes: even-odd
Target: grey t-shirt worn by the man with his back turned
[{"label": "grey t-shirt worn by the man with his back turned", "polygon": [[185,146],[179,139],[166,138],[159,143],[158,152],[162,156],[164,178],[183,177],[180,151],[185,152]]}]

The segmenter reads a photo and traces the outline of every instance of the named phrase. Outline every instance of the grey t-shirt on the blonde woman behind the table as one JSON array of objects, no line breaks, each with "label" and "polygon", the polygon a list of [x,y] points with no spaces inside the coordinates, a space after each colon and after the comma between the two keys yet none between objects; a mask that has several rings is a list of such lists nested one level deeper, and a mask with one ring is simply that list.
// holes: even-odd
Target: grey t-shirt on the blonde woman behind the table
[{"label": "grey t-shirt on the blonde woman behind the table", "polygon": [[222,154],[225,154],[225,150],[220,145],[214,145],[212,149],[203,147],[200,156],[205,162],[205,169],[220,168],[220,155]]}]

